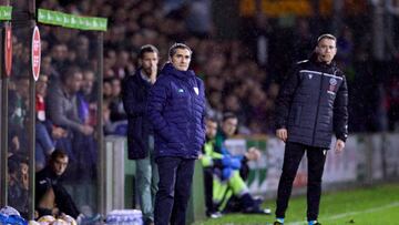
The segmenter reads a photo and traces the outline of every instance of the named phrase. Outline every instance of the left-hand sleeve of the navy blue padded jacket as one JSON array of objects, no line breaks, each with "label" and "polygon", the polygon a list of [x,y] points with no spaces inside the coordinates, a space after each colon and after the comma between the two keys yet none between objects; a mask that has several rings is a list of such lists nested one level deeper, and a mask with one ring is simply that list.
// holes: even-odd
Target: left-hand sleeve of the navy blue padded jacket
[{"label": "left-hand sleeve of the navy blue padded jacket", "polygon": [[154,130],[167,142],[180,143],[176,131],[173,131],[163,116],[163,111],[167,102],[167,82],[158,79],[151,88],[149,103],[146,108],[147,116]]}]

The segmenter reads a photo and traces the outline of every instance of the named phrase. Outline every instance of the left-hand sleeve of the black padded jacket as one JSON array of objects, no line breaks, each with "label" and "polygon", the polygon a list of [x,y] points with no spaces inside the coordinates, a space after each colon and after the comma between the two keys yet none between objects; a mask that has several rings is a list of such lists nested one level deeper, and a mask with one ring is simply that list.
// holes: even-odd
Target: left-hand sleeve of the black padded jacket
[{"label": "left-hand sleeve of the black padded jacket", "polygon": [[287,127],[289,108],[299,82],[298,71],[298,68],[294,69],[279,90],[276,101],[276,129]]}]

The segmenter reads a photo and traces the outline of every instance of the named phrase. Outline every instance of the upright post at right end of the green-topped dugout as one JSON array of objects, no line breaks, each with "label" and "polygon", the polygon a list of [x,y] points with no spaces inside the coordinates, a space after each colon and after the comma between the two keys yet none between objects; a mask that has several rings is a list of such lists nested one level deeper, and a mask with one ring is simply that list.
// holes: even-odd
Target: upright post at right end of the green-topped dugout
[{"label": "upright post at right end of the green-topped dugout", "polygon": [[99,212],[102,215],[105,215],[105,150],[104,150],[104,135],[103,135],[103,64],[104,64],[104,34],[103,32],[98,32],[98,113],[96,113],[96,133],[98,133],[98,151],[99,151],[99,158],[98,162],[98,195],[99,195]]}]

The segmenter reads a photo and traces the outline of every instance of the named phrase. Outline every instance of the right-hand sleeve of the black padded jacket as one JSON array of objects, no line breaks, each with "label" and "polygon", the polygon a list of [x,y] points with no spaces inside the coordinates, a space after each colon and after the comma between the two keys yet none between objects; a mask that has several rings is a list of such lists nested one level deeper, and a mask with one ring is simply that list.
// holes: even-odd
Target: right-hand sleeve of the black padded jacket
[{"label": "right-hand sleeve of the black padded jacket", "polygon": [[348,137],[348,86],[345,76],[334,102],[334,132],[344,142]]}]

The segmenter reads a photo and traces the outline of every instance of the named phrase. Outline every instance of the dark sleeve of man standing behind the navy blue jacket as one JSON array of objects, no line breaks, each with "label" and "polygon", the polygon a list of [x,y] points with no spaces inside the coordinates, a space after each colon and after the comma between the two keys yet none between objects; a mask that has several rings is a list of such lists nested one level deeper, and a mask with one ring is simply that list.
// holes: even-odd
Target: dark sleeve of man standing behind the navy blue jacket
[{"label": "dark sleeve of man standing behind the navy blue jacket", "polygon": [[134,83],[133,76],[127,76],[123,82],[122,101],[123,108],[130,117],[143,115],[145,112],[145,101],[137,100],[137,85]]}]

